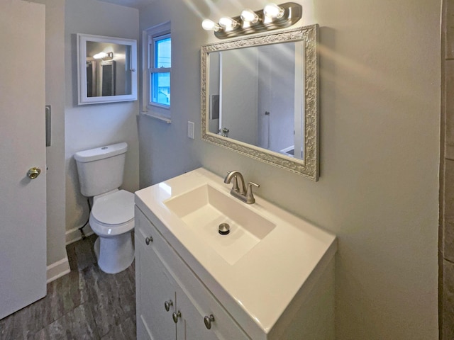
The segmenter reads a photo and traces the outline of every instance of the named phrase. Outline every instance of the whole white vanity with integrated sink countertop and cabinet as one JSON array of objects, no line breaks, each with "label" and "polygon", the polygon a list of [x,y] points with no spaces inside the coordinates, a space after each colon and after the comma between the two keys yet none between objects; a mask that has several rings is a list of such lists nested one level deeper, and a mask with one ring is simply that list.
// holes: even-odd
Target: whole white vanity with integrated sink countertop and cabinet
[{"label": "whole white vanity with integrated sink countertop and cabinet", "polygon": [[135,193],[138,339],[334,339],[336,237],[230,190],[196,169]]}]

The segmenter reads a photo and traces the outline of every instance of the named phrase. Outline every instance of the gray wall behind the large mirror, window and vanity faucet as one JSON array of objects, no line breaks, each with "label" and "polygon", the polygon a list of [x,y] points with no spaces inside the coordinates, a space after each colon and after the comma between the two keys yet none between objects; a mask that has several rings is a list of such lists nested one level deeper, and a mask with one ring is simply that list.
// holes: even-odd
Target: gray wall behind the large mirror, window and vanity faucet
[{"label": "gray wall behind the large mirror, window and vanity faucet", "polygon": [[441,1],[298,2],[321,27],[319,182],[200,140],[199,45],[216,41],[201,20],[262,1],[156,0],[140,30],[172,21],[172,124],[140,117],[140,186],[242,171],[338,235],[336,339],[436,339]]}]

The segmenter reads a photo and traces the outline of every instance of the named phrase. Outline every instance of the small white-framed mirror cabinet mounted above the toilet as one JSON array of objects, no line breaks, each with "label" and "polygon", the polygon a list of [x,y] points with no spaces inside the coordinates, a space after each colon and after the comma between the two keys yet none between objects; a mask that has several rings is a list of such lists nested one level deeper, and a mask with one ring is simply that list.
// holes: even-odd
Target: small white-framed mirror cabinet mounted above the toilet
[{"label": "small white-framed mirror cabinet mounted above the toilet", "polygon": [[137,100],[137,42],[77,34],[79,105]]}]

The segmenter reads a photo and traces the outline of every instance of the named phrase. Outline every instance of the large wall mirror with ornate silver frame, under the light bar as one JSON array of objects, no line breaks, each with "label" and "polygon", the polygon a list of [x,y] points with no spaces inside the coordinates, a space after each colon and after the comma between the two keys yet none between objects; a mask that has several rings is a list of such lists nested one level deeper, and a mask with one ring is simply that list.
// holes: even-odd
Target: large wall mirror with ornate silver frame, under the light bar
[{"label": "large wall mirror with ornate silver frame, under the light bar", "polygon": [[202,140],[319,179],[318,26],[201,47]]}]

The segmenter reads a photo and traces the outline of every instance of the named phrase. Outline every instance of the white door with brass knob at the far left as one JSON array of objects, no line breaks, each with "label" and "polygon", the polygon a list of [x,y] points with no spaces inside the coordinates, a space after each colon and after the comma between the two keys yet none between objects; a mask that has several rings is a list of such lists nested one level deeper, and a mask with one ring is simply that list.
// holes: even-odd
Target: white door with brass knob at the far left
[{"label": "white door with brass knob at the far left", "polygon": [[2,319],[46,293],[45,6],[2,1],[0,42]]}]

